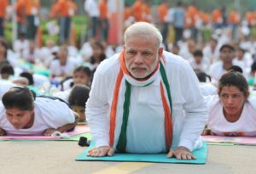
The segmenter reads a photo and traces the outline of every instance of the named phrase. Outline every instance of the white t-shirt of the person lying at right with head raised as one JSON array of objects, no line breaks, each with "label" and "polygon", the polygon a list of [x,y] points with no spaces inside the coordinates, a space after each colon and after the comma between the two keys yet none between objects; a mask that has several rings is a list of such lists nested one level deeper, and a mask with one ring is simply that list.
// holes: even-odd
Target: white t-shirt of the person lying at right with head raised
[{"label": "white t-shirt of the person lying at right with head raised", "polygon": [[256,98],[248,98],[236,122],[225,119],[223,106],[218,96],[207,98],[209,107],[208,126],[217,135],[221,136],[256,136]]}]

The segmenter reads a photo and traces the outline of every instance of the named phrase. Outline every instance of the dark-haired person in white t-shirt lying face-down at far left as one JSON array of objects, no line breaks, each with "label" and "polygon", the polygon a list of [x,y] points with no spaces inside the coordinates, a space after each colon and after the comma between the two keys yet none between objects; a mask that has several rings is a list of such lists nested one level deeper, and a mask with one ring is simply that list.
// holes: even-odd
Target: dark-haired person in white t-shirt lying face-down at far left
[{"label": "dark-haired person in white t-shirt lying face-down at far left", "polygon": [[78,119],[78,114],[59,99],[35,98],[26,87],[12,87],[0,103],[0,136],[50,136],[73,129]]}]

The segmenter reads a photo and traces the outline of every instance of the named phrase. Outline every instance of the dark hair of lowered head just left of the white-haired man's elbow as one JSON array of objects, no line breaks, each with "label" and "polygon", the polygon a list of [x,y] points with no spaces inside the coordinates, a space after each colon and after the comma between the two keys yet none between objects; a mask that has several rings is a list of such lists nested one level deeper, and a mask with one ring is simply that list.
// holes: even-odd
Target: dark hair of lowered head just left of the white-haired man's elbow
[{"label": "dark hair of lowered head just left of the white-haired man's elbow", "polygon": [[76,85],[73,87],[69,97],[68,104],[71,106],[78,105],[85,107],[85,103],[89,98],[90,88],[83,85]]}]

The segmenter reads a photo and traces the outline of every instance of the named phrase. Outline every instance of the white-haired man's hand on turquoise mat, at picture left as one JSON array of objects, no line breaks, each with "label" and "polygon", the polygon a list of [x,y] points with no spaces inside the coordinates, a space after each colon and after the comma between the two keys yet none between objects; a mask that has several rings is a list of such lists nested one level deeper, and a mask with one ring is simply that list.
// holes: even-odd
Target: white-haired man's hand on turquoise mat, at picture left
[{"label": "white-haired man's hand on turquoise mat, at picture left", "polygon": [[99,156],[106,156],[106,155],[112,156],[113,153],[114,153],[114,150],[110,146],[102,146],[95,149],[90,149],[87,155],[93,156],[93,157],[99,157]]}]

